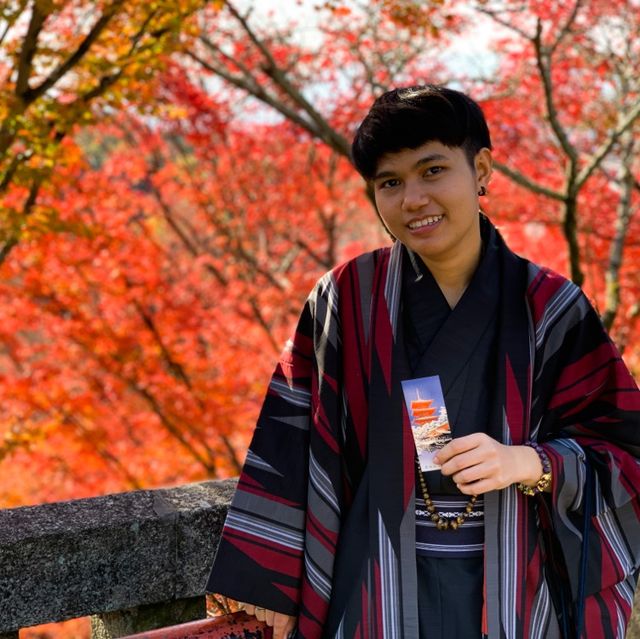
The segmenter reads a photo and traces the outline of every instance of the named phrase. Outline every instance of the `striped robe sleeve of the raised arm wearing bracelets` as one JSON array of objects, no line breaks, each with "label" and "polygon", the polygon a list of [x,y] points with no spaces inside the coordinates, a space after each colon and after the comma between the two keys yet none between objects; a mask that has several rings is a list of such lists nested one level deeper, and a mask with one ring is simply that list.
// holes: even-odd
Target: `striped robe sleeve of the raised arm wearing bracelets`
[{"label": "striped robe sleeve of the raised arm wearing bracelets", "polygon": [[542,272],[535,299],[533,415],[562,572],[582,636],[622,638],[640,563],[640,393],[580,289]]}]

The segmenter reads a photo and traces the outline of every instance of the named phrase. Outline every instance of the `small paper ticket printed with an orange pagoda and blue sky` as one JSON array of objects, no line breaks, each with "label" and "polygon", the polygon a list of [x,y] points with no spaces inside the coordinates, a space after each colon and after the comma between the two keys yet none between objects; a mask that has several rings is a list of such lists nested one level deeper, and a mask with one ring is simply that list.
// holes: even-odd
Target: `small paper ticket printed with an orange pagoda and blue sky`
[{"label": "small paper ticket printed with an orange pagoda and blue sky", "polygon": [[433,461],[438,450],[451,441],[449,416],[440,377],[420,377],[402,382],[402,391],[411,421],[411,431],[423,472],[438,470]]}]

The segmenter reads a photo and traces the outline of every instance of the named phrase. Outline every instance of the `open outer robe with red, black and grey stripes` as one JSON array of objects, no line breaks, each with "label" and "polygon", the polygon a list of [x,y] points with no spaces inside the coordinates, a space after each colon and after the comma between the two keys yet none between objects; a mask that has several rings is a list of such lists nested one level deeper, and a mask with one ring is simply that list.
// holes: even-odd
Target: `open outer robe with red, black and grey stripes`
[{"label": "open outer robe with red, black and grey stripes", "polygon": [[[581,290],[484,223],[501,293],[491,434],[540,442],[553,484],[534,498],[515,485],[483,495],[483,632],[622,638],[640,555],[640,393]],[[399,242],[364,254],[309,295],[207,586],[297,616],[299,638],[419,636],[406,255]]]}]

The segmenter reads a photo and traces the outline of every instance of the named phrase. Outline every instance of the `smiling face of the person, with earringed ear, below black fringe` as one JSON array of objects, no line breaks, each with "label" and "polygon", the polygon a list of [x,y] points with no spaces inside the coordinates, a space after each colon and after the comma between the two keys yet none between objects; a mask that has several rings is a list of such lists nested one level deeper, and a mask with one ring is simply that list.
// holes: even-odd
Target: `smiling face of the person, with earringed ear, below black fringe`
[{"label": "smiling face of the person, with earringed ear, below black fringe", "polygon": [[394,237],[430,269],[468,269],[480,256],[478,191],[490,175],[489,149],[481,149],[471,167],[461,147],[426,142],[380,158],[376,205]]}]

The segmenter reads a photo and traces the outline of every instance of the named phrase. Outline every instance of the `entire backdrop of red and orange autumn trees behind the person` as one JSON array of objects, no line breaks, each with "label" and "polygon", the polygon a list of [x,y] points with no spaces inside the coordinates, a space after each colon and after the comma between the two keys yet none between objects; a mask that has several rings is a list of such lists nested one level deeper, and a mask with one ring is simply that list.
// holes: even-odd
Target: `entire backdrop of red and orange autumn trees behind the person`
[{"label": "entire backdrop of red and orange autumn trees behind the person", "polygon": [[[234,2],[46,3],[28,91],[111,17],[26,106],[20,5],[2,58],[3,100],[22,106],[3,112],[0,164],[1,503],[237,473],[306,293],[387,241],[349,141],[394,85],[482,102],[488,212],[518,250],[584,279],[633,365],[640,18],[616,19],[626,4],[327,2],[304,41],[304,25]],[[76,39],[48,53],[63,27]],[[473,73],[447,57],[468,34]]]}]

